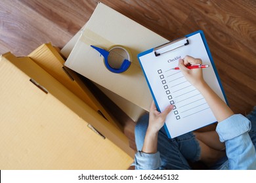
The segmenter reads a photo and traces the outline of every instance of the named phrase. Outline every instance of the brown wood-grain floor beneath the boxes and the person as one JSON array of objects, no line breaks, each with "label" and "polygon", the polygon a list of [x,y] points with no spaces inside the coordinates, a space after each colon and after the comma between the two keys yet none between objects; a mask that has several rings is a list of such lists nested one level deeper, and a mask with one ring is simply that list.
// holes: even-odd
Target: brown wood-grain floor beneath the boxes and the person
[{"label": "brown wood-grain floor beneath the boxes and the person", "polygon": [[[1,0],[0,54],[26,56],[45,42],[62,48],[89,20],[98,0]],[[247,114],[256,105],[256,1],[127,0],[102,3],[172,40],[205,33],[228,103]],[[134,144],[134,124],[122,118]]]}]

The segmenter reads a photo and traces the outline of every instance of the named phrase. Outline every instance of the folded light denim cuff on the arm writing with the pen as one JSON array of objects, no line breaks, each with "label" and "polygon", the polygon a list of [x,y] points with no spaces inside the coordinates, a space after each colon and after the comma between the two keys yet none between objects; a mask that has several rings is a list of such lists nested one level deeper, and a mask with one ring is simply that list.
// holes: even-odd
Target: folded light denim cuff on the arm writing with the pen
[{"label": "folded light denim cuff on the arm writing with the pen", "polygon": [[217,125],[221,142],[234,139],[251,129],[251,122],[242,114],[234,114]]}]

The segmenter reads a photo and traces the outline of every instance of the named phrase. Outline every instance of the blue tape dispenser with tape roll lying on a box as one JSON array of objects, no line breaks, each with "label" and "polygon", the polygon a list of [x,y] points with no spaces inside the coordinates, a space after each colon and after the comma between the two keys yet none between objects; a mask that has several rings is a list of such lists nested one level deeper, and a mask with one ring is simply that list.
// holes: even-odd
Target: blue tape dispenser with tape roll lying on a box
[{"label": "blue tape dispenser with tape roll lying on a box", "polygon": [[91,47],[100,52],[100,55],[104,57],[106,68],[112,73],[123,73],[131,65],[131,53],[124,46],[114,45],[108,50],[93,45]]}]

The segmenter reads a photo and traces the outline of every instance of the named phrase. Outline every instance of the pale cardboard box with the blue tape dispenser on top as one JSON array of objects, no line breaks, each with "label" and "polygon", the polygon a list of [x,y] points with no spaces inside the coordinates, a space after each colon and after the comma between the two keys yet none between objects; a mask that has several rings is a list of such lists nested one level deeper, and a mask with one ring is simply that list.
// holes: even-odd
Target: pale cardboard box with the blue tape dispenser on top
[{"label": "pale cardboard box with the blue tape dispenser on top", "polygon": [[[140,108],[149,110],[152,95],[137,54],[165,42],[168,41],[160,35],[98,3],[65,65]],[[108,71],[100,54],[91,48],[94,45],[108,49],[115,44],[127,47],[132,55],[131,66],[120,74]]]}]

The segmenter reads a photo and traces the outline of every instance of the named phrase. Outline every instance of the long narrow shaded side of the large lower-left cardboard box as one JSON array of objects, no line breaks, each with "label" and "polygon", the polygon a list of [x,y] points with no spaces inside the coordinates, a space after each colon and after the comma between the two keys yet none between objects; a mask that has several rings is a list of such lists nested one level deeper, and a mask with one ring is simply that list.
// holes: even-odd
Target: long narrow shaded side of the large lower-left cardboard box
[{"label": "long narrow shaded side of the large lower-left cardboard box", "polygon": [[16,58],[11,53],[5,54],[5,58],[11,61],[11,63],[18,67],[22,72],[26,73],[29,78],[32,78],[38,84],[43,86],[49,93],[51,93],[51,95],[58,99],[58,101],[75,112],[75,114],[77,114],[77,118],[82,118],[85,122],[93,125],[93,127],[104,135],[104,137],[114,142],[114,144],[129,154],[129,156],[134,156],[134,151],[129,147],[127,137],[125,137],[121,131],[119,131],[114,125],[110,124],[102,116],[98,115],[95,110],[60,84],[60,82],[54,79],[53,76],[41,69],[41,67],[34,63],[32,59]]}]

